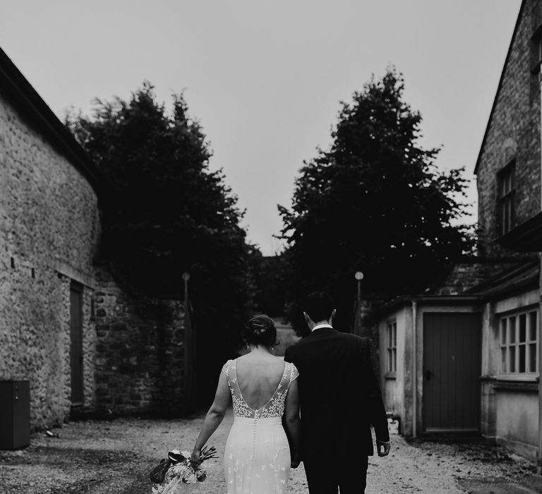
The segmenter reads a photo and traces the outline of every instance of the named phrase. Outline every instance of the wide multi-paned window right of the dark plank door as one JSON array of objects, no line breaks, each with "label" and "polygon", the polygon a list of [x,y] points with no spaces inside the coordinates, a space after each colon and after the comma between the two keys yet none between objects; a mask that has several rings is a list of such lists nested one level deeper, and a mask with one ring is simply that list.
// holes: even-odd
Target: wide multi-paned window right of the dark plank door
[{"label": "wide multi-paned window right of the dark plank door", "polygon": [[500,318],[500,373],[534,374],[538,346],[538,311],[522,311]]}]

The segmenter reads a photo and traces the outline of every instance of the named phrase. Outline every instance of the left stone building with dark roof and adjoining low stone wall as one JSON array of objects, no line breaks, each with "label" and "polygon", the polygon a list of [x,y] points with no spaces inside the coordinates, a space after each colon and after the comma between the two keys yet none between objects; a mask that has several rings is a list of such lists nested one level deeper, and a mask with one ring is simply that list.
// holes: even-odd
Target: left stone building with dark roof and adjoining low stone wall
[{"label": "left stone building with dark roof and adjoining low stone wall", "polygon": [[0,380],[30,382],[34,429],[73,411],[190,406],[185,305],[136,296],[99,262],[108,197],[73,135],[0,50]]}]

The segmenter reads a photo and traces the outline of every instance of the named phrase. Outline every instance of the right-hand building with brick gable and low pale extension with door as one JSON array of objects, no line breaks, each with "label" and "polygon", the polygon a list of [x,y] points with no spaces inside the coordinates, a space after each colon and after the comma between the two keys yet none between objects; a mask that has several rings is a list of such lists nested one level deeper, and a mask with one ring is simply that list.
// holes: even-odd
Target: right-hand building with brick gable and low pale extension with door
[{"label": "right-hand building with brick gable and low pale extension with door", "polygon": [[542,1],[524,0],[476,162],[479,257],[377,315],[406,435],[481,433],[542,466]]}]

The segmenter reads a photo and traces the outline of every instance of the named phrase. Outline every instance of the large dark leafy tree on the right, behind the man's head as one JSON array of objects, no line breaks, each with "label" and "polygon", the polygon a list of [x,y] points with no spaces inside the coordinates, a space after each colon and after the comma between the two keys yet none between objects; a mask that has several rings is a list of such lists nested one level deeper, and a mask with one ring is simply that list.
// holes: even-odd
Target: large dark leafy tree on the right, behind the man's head
[{"label": "large dark leafy tree on the right, behind the man's head", "polygon": [[363,296],[389,299],[438,282],[471,248],[461,169],[435,168],[423,150],[421,115],[403,100],[395,69],[342,103],[330,150],[305,162],[291,209],[279,206],[287,240],[291,318],[303,327],[299,300],[314,289],[335,296],[339,324],[350,326],[361,270]]}]

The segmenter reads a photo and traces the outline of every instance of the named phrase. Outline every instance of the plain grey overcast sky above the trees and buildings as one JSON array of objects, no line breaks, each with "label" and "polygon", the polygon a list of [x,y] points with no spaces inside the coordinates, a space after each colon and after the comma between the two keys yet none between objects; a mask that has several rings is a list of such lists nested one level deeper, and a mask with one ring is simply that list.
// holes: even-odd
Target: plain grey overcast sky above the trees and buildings
[{"label": "plain grey overcast sky above the trees and buildings", "polygon": [[[4,0],[0,47],[54,112],[185,91],[269,255],[340,101],[395,65],[442,169],[472,176],[520,0]],[[470,194],[471,200],[476,195]]]}]

